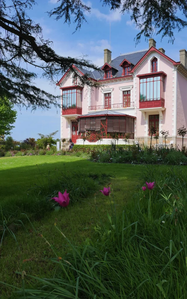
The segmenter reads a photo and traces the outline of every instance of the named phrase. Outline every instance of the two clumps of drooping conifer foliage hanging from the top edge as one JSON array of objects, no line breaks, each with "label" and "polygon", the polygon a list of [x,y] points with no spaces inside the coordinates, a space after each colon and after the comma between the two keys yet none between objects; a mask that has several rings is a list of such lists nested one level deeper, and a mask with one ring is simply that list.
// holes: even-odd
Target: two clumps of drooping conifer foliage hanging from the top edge
[{"label": "two clumps of drooping conifer foliage hanging from the top edge", "polygon": [[[129,13],[131,21],[136,25],[140,32],[136,35],[136,42],[140,41],[141,36],[146,39],[155,33],[168,37],[170,42],[174,42],[174,30],[180,31],[187,26],[187,21],[179,17],[179,12],[183,13],[184,19],[187,18],[187,0],[101,0],[103,5],[108,5],[111,10],[120,9],[121,13]],[[59,0],[60,4],[49,13],[56,16],[56,20],[64,17],[64,22],[70,24],[70,16],[74,16],[76,29],[80,29],[81,24],[86,21],[85,12],[90,12],[91,7],[84,4],[81,0]]]}]

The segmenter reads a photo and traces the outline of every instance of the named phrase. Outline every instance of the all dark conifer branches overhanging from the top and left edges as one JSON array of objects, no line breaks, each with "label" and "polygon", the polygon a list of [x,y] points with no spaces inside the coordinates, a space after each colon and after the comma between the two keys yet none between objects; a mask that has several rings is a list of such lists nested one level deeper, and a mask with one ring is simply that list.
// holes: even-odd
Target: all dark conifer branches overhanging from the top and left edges
[{"label": "all dark conifer branches overhanging from the top and left edges", "polygon": [[[179,12],[187,18],[187,0],[101,0],[103,5],[109,5],[111,10],[120,9],[121,13],[131,13],[131,20],[140,32],[136,35],[136,42],[141,36],[146,39],[153,34],[167,36],[174,41],[174,30],[180,31],[187,26],[186,20],[179,17]],[[56,20],[64,18],[64,23],[70,24],[74,17],[75,30],[79,30],[86,22],[85,12],[91,8],[82,0],[59,0],[56,8],[48,12],[49,17]],[[37,88],[32,81],[37,77],[35,72],[28,71],[32,65],[42,71],[42,77],[55,83],[59,77],[70,69],[76,73],[73,64],[78,68],[85,68],[86,74],[82,77],[76,73],[80,84],[84,86],[98,86],[92,80],[87,80],[89,70],[99,70],[86,56],[80,58],[63,57],[51,48],[52,42],[45,40],[42,28],[29,16],[28,10],[36,4],[34,0],[1,0],[0,5],[0,97],[7,97],[11,103],[18,106],[50,108],[59,106],[60,96],[54,96]]]}]

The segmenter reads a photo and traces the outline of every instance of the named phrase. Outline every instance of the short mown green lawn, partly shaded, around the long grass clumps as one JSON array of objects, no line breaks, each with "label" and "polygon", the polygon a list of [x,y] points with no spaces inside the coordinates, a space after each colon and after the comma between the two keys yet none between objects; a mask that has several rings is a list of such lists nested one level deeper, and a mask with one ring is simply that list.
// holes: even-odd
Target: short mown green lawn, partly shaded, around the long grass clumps
[{"label": "short mown green lawn, partly shaded, around the long grass clumps", "polygon": [[[28,189],[41,180],[36,164],[41,173],[46,175],[48,175],[48,171],[52,175],[53,172],[55,173],[55,169],[63,172],[66,169],[66,172],[76,170],[83,173],[102,172],[111,174],[114,176],[110,181],[112,181],[114,186],[118,209],[121,209],[132,198],[139,183],[138,174],[145,169],[143,165],[99,164],[73,156],[0,158],[0,200],[3,207],[7,208],[11,205],[12,208],[15,202],[22,201],[30,204],[32,198],[28,195]],[[110,209],[109,199],[99,193],[96,202],[102,220],[106,221],[106,210]],[[19,213],[19,210],[16,213]],[[85,202],[77,202],[75,205],[69,206],[68,209],[61,209],[59,212],[47,211],[44,215],[41,213],[39,217],[37,215],[33,224],[37,231],[45,236],[48,242],[66,253],[66,244],[60,241],[54,222],[57,222],[63,233],[69,239],[72,239],[73,233],[70,217],[76,244],[83,244],[88,237],[91,239],[95,238],[94,227],[99,223],[99,217],[95,210],[94,196],[85,199]],[[51,274],[55,272],[51,261],[48,260],[53,256],[49,246],[34,233],[31,225],[24,221],[24,216],[22,216],[22,220],[26,225],[27,231],[12,225],[11,230],[16,236],[17,243],[13,237],[8,235],[3,240],[0,248],[0,280],[19,287],[21,285],[21,277],[15,274],[15,271],[21,271],[22,260],[24,259],[32,258],[31,262],[25,263],[25,272],[27,274],[51,277]],[[3,286],[1,292],[1,298],[8,298],[11,289]]]}]

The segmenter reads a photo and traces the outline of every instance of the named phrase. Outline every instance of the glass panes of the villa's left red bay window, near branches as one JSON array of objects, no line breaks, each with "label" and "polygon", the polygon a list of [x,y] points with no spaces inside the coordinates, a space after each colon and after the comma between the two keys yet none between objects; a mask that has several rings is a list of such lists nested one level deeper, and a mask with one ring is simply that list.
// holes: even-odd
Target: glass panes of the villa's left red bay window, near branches
[{"label": "glass panes of the villa's left red bay window, near branches", "polygon": [[82,108],[82,90],[80,89],[63,90],[62,99],[63,109]]}]

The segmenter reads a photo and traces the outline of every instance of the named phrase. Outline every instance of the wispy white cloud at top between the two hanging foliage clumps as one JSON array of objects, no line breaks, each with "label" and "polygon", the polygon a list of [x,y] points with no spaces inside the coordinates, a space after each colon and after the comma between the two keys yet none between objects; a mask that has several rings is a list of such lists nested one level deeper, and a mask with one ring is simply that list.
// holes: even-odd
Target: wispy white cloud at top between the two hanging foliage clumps
[{"label": "wispy white cloud at top between the two hanging foliage clumps", "polygon": [[115,22],[115,21],[121,21],[121,9],[116,9],[115,11],[110,11],[110,13],[105,14],[101,13],[98,8],[92,8],[92,3],[87,2],[87,6],[91,7],[90,13],[85,12],[86,16],[92,16],[95,17],[101,21],[108,21],[108,22]]}]

